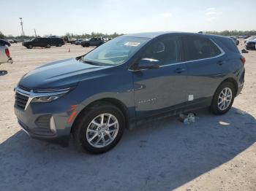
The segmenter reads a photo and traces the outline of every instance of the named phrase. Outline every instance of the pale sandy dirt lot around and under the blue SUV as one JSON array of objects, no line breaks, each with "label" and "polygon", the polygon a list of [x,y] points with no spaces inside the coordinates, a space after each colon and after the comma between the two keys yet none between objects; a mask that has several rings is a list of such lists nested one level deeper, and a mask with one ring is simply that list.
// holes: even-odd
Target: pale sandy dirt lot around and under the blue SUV
[{"label": "pale sandy dirt lot around and under the blue SUV", "polygon": [[256,190],[256,51],[244,54],[244,90],[223,116],[202,109],[192,125],[177,117],[140,125],[103,155],[78,152],[72,140],[64,148],[29,138],[13,113],[13,87],[43,63],[89,50],[10,47],[14,63],[0,66],[8,71],[0,77],[0,190]]}]

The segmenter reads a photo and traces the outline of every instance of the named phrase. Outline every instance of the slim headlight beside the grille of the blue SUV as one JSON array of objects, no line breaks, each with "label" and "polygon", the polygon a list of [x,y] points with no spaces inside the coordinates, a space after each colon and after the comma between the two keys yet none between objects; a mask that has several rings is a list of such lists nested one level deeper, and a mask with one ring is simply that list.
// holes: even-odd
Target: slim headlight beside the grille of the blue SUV
[{"label": "slim headlight beside the grille of the blue SUV", "polygon": [[34,98],[31,102],[50,102],[61,98],[63,95],[69,93],[74,87],[69,87],[59,90],[36,90],[34,91]]}]

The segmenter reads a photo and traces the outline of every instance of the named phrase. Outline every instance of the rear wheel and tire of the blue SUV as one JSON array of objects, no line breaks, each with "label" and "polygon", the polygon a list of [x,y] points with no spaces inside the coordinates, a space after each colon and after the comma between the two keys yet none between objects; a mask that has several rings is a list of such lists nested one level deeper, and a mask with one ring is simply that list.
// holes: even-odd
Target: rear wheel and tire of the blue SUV
[{"label": "rear wheel and tire of the blue SUV", "polygon": [[236,95],[235,86],[232,82],[223,82],[217,88],[214,98],[211,101],[211,112],[214,114],[227,113],[234,101]]}]

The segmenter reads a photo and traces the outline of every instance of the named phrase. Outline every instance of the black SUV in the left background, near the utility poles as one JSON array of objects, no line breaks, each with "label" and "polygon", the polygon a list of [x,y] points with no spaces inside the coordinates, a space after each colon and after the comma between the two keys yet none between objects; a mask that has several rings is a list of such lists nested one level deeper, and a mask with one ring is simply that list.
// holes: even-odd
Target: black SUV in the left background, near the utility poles
[{"label": "black SUV in the left background, near the utility poles", "polygon": [[23,42],[22,45],[29,49],[33,47],[46,47],[50,48],[52,46],[61,47],[64,44],[64,40],[61,38],[33,38],[29,41]]}]

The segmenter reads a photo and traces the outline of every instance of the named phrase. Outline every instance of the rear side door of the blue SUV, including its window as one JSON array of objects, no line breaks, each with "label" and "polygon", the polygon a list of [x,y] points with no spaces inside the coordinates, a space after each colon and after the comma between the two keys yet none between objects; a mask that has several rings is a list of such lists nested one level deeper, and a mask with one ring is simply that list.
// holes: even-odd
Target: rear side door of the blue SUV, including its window
[{"label": "rear side door of the blue SUV, including its window", "polygon": [[208,104],[225,75],[223,50],[206,36],[189,35],[183,38],[187,61],[187,92],[192,103]]}]

